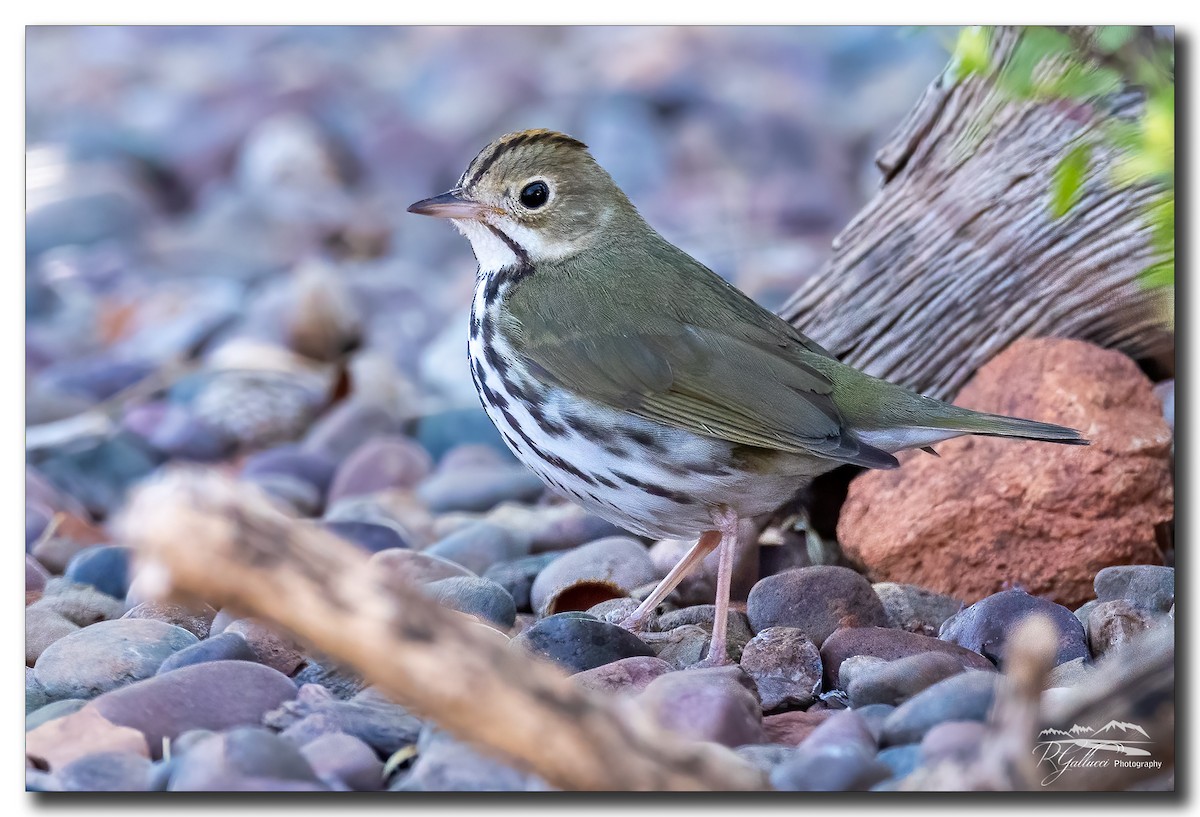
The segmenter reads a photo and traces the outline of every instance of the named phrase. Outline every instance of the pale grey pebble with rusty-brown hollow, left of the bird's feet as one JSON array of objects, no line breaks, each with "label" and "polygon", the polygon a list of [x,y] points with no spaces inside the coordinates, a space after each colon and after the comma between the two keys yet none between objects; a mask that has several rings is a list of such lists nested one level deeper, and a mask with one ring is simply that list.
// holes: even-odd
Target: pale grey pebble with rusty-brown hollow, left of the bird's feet
[{"label": "pale grey pebble with rusty-brown hollow, left of the bird's feet", "polygon": [[538,573],[529,603],[540,615],[587,609],[605,599],[629,595],[658,572],[646,547],[629,536],[608,536],[582,545]]}]

